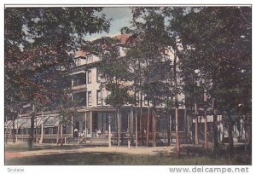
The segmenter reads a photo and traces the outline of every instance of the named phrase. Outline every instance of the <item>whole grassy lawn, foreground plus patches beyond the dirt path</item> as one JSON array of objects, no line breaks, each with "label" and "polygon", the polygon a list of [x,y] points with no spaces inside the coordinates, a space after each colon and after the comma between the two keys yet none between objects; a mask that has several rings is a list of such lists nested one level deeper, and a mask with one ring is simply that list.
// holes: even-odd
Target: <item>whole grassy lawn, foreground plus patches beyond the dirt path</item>
[{"label": "whole grassy lawn, foreground plus patches beyond the dirt path", "polygon": [[[36,147],[38,149],[53,147]],[[60,147],[55,147],[60,148]],[[63,148],[74,148],[71,146]],[[6,151],[26,150],[26,147],[15,145],[5,148]],[[47,154],[22,158],[6,159],[5,165],[251,165],[251,155],[237,152],[233,157],[221,153],[212,155],[202,148],[182,148],[183,154],[177,158],[175,154],[121,154],[83,152],[72,154]],[[191,152],[191,153],[190,153]]]}]

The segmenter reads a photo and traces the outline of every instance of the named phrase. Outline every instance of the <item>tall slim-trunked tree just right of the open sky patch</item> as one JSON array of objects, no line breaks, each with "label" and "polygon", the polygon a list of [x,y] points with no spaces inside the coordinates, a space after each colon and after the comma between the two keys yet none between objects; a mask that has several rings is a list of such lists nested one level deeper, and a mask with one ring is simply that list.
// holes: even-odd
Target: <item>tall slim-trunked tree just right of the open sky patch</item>
[{"label": "tall slim-trunked tree just right of the open sky patch", "polygon": [[[172,96],[166,76],[170,75],[171,60],[166,59],[168,35],[165,19],[160,8],[132,8],[131,47],[127,56],[134,69],[134,85],[148,101],[147,146],[149,134],[149,113],[152,107],[153,145],[156,146],[156,107],[162,105],[165,97]],[[141,104],[142,115],[142,104]],[[143,133],[143,132],[142,132]]]}]

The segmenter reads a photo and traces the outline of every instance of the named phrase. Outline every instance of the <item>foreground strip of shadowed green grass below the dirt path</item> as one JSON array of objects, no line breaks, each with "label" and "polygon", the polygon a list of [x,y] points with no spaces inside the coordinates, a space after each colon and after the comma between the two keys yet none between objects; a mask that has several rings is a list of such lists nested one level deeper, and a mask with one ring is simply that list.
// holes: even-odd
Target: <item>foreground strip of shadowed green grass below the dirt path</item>
[{"label": "foreground strip of shadowed green grass below the dirt path", "polygon": [[165,155],[73,153],[8,159],[6,165],[248,165],[236,158],[174,157]]}]

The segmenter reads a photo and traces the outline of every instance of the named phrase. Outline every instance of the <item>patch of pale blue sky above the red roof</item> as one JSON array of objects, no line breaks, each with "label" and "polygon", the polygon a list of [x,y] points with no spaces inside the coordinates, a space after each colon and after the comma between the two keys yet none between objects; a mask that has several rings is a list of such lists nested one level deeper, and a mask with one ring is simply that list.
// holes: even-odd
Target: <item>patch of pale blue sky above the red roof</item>
[{"label": "patch of pale blue sky above the red roof", "polygon": [[109,32],[102,32],[86,36],[88,40],[111,37],[120,33],[120,29],[124,26],[130,26],[132,14],[131,9],[127,7],[106,7],[102,10],[103,14],[106,14],[107,19],[112,18],[110,23]]}]

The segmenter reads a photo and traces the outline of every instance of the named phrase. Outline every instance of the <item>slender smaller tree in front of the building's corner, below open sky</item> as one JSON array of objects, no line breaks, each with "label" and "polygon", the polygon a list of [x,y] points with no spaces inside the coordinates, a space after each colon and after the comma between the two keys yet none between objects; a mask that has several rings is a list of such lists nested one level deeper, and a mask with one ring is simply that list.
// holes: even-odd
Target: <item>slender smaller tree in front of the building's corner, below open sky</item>
[{"label": "slender smaller tree in front of the building's corner, below open sky", "polygon": [[[99,72],[106,81],[103,83],[110,94],[106,103],[115,107],[118,127],[118,146],[120,141],[120,108],[131,103],[132,96],[129,94],[129,69],[125,57],[120,56],[118,40],[115,38],[102,38],[97,42],[102,45],[102,61],[99,65]],[[127,79],[128,78],[128,79]]]}]

